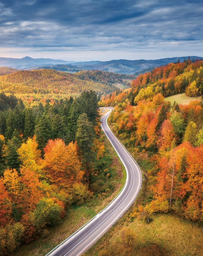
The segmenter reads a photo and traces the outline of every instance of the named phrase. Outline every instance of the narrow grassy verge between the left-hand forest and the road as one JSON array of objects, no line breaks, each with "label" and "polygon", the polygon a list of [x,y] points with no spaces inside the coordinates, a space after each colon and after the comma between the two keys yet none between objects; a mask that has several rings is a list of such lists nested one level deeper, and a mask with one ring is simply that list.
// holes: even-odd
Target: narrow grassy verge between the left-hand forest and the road
[{"label": "narrow grassy verge between the left-hand forest and the road", "polygon": [[122,189],[126,180],[125,168],[103,131],[101,131],[101,139],[104,140],[106,151],[112,158],[109,169],[111,169],[113,177],[111,181],[114,185],[113,193],[111,191],[108,192],[108,190],[107,192],[103,191],[105,184],[100,186],[101,192],[97,191],[89,202],[81,206],[71,206],[66,211],[66,216],[60,225],[45,230],[38,239],[27,244],[22,244],[14,254],[15,256],[44,256],[104,209]]}]

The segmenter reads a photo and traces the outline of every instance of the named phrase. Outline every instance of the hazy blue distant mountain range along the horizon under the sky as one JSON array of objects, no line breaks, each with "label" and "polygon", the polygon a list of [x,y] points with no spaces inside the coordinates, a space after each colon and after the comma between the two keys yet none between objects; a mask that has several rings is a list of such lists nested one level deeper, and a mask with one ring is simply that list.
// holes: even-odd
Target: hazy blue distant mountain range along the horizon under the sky
[{"label": "hazy blue distant mountain range along the horizon under the sky", "polygon": [[[123,74],[139,74],[143,70],[150,71],[155,67],[164,66],[171,62],[183,62],[186,57],[174,57],[158,60],[111,60],[111,61],[63,61],[52,59],[33,59],[28,56],[22,59],[0,58],[0,66],[18,69],[49,68],[59,71],[76,72],[79,70],[103,70]],[[191,60],[202,59],[198,56],[190,56]]]}]

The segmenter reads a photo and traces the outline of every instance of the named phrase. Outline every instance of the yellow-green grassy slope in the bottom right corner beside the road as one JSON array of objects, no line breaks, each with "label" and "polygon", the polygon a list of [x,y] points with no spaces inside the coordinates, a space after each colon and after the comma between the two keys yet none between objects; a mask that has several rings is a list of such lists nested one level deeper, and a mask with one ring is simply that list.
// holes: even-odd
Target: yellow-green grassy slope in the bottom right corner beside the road
[{"label": "yellow-green grassy slope in the bottom right corner beside the road", "polygon": [[203,227],[173,214],[156,214],[148,224],[130,218],[120,219],[84,255],[196,255],[203,252]]}]

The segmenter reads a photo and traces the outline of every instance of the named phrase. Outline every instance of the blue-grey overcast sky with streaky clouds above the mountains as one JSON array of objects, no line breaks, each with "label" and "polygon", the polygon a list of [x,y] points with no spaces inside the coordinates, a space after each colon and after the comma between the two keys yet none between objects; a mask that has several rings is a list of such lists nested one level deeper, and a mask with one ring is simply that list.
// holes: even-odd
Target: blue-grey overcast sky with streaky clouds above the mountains
[{"label": "blue-grey overcast sky with streaky clouds above the mountains", "polygon": [[202,24],[201,0],[0,0],[0,57],[203,57]]}]

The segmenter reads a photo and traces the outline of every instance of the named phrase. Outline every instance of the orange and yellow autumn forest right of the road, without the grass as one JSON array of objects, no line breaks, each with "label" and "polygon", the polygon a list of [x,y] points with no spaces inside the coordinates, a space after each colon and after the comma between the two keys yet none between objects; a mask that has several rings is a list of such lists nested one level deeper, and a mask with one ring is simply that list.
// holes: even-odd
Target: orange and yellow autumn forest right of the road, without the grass
[{"label": "orange and yellow autumn forest right of the road, without the grass", "polygon": [[109,123],[143,170],[134,217],[172,211],[203,221],[203,99],[188,105],[164,100],[203,93],[203,62],[169,64],[132,81],[132,89],[103,97]]}]

